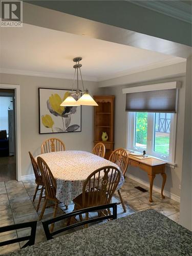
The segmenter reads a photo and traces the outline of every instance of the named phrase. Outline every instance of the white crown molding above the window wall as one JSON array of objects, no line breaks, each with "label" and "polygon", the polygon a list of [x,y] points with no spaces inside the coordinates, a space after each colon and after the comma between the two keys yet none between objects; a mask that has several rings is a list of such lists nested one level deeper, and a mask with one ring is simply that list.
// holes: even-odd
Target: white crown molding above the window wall
[{"label": "white crown molding above the window wall", "polygon": [[143,72],[143,71],[147,71],[147,70],[158,69],[158,68],[161,68],[161,67],[174,65],[174,64],[178,64],[178,63],[182,63],[182,62],[186,62],[186,59],[183,58],[180,61],[178,61],[178,59],[170,58],[170,59],[167,59],[167,60],[157,61],[153,64],[141,66],[141,67],[138,67],[137,69],[130,69],[130,70],[127,70],[127,71],[121,71],[121,72],[115,73],[115,74],[110,75],[110,76],[100,77],[98,79],[98,81],[101,82],[101,81],[105,81],[105,80],[109,80],[109,79],[113,79],[113,78],[118,78],[118,77],[121,77],[121,76],[131,75],[131,74],[135,74],[135,73],[139,73],[139,72]]}]

